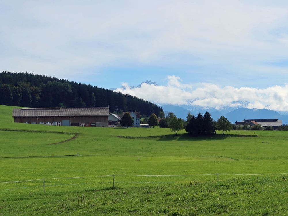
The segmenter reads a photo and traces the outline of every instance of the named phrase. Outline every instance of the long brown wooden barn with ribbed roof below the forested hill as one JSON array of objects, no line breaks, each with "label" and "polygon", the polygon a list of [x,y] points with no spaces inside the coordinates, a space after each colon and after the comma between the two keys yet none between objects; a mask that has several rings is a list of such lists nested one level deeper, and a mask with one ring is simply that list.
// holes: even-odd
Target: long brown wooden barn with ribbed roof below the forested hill
[{"label": "long brown wooden barn with ribbed roof below the forested hill", "polygon": [[108,126],[108,107],[13,109],[14,122],[56,126]]}]

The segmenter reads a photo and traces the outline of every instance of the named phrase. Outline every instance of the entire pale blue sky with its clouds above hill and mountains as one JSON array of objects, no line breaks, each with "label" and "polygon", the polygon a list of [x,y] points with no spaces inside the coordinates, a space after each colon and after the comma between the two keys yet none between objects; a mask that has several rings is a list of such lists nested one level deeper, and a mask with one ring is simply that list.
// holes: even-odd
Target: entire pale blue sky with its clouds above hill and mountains
[{"label": "entire pale blue sky with its clouds above hill and mountains", "polygon": [[[288,111],[287,1],[2,0],[0,18],[1,71],[103,88],[150,79],[173,104]],[[129,93],[171,102],[161,91]]]}]

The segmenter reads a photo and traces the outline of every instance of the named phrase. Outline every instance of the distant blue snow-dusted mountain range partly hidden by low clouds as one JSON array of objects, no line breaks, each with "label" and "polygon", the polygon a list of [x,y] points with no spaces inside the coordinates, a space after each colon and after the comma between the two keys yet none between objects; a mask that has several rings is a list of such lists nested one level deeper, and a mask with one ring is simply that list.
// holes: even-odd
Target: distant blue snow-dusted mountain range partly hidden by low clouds
[{"label": "distant blue snow-dusted mountain range partly hidden by low clouds", "polygon": [[[130,86],[129,88],[140,88],[143,83],[148,85],[159,86],[156,82],[152,82],[151,80],[146,80],[142,82],[138,86]],[[121,86],[119,88],[126,89],[125,86]],[[111,88],[111,90],[116,90],[117,88]],[[195,99],[197,100],[197,99]],[[195,101],[194,100],[194,101]],[[231,103],[223,106],[217,107],[204,107],[193,105],[194,101],[187,101],[187,104],[184,105],[170,105],[170,104],[158,104],[162,107],[162,109],[168,112],[173,112],[177,117],[186,119],[188,112],[193,115],[197,115],[198,113],[204,114],[208,111],[212,118],[217,121],[217,119],[223,115],[228,120],[234,124],[236,121],[243,121],[246,119],[281,119],[283,124],[288,124],[288,112],[276,112],[269,109],[248,109],[247,107],[251,107],[251,103],[249,101],[232,101]]]}]

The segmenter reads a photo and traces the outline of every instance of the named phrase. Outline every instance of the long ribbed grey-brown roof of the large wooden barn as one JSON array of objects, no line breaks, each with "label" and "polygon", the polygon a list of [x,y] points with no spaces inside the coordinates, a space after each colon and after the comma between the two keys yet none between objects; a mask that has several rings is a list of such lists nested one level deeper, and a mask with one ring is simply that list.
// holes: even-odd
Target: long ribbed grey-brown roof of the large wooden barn
[{"label": "long ribbed grey-brown roof of the large wooden barn", "polygon": [[108,116],[108,107],[96,108],[22,108],[13,109],[13,117],[40,116]]}]

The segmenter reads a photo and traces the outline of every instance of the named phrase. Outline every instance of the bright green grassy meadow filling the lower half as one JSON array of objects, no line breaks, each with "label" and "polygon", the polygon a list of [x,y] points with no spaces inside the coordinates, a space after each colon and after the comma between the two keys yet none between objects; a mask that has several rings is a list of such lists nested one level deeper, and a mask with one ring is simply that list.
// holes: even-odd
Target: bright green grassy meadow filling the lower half
[{"label": "bright green grassy meadow filling the lower half", "polygon": [[[288,173],[286,131],[31,125],[13,108],[0,106],[0,182],[39,180],[0,183],[0,215],[287,214],[288,174],[233,175]],[[68,177],[86,178],[55,179]]]}]

